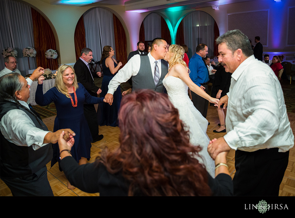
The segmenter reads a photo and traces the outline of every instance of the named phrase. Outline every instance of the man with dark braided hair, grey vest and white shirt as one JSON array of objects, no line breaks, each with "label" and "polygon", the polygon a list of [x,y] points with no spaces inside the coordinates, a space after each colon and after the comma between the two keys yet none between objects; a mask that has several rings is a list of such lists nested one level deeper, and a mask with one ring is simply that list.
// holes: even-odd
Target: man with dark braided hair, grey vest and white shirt
[{"label": "man with dark braided hair, grey vest and white shirt", "polygon": [[[42,73],[41,68],[35,71]],[[29,97],[30,85],[20,74],[0,78],[0,177],[13,196],[53,196],[46,168],[53,156],[51,143],[63,131],[66,140],[75,133],[71,129],[49,132],[26,103]]]}]

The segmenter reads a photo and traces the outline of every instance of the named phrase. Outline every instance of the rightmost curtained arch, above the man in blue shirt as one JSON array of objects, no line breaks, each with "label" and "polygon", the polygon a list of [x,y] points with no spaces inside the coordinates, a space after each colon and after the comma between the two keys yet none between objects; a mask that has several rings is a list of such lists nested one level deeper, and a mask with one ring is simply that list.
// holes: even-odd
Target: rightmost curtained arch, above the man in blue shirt
[{"label": "rightmost curtained arch, above the man in blue shirt", "polygon": [[219,28],[214,18],[204,11],[191,11],[179,19],[176,26],[176,44],[186,44],[188,57],[194,55],[198,44],[208,45],[208,56],[217,56],[215,39],[219,36]]}]

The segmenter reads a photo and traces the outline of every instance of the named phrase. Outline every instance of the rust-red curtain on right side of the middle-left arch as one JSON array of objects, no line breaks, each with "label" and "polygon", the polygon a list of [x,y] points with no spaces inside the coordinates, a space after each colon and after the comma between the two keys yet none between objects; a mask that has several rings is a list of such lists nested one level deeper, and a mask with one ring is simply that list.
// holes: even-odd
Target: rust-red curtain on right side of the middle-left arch
[{"label": "rust-red curtain on right side of the middle-left arch", "polygon": [[121,21],[113,14],[114,20],[114,34],[115,34],[115,46],[116,46],[116,59],[121,61],[123,66],[127,63],[127,40],[126,34]]}]

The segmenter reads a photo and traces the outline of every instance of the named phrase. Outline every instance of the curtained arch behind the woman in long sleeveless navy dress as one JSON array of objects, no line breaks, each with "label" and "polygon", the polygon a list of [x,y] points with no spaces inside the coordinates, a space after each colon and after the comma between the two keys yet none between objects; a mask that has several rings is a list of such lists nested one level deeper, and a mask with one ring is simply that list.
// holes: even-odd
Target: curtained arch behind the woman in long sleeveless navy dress
[{"label": "curtained arch behind the woman in long sleeveless navy dress", "polygon": [[74,41],[76,59],[84,47],[89,47],[95,61],[100,61],[103,47],[109,45],[115,50],[114,58],[127,63],[125,29],[109,8],[93,7],[85,11],[76,25]]}]

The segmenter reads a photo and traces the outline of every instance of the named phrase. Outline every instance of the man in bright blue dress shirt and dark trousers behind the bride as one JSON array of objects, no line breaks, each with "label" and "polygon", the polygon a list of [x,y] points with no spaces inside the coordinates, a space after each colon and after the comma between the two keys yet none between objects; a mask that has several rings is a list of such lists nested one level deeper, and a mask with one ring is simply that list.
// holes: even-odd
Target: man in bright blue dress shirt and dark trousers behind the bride
[{"label": "man in bright blue dress shirt and dark trousers behind the bride", "polygon": [[[201,89],[203,89],[206,93],[208,91],[208,81],[209,81],[209,71],[207,65],[203,61],[202,58],[206,57],[208,54],[208,46],[205,44],[199,44],[196,48],[196,54],[191,57],[189,60],[189,69],[190,74],[189,77],[191,80]],[[196,109],[206,118],[207,110],[208,110],[208,100],[202,98],[197,95],[193,91],[191,91],[191,97],[193,100],[193,104]]]}]

